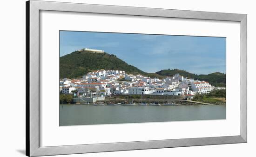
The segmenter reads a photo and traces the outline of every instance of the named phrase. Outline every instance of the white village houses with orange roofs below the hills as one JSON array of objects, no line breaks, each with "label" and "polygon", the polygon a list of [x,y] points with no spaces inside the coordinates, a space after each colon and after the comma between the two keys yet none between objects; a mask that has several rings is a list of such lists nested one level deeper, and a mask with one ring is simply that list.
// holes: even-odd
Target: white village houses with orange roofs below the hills
[{"label": "white village houses with orange roofs below the hills", "polygon": [[91,95],[194,95],[215,89],[209,82],[184,78],[175,74],[166,78],[131,75],[121,70],[95,70],[77,79],[61,79],[61,94]]}]

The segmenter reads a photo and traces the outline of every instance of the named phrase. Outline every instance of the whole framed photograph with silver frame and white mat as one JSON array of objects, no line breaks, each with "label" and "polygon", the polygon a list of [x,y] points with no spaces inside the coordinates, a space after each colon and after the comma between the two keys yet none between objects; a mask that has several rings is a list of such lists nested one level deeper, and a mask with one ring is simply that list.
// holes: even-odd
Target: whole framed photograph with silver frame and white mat
[{"label": "whole framed photograph with silver frame and white mat", "polygon": [[247,15],[26,2],[26,155],[247,142]]}]

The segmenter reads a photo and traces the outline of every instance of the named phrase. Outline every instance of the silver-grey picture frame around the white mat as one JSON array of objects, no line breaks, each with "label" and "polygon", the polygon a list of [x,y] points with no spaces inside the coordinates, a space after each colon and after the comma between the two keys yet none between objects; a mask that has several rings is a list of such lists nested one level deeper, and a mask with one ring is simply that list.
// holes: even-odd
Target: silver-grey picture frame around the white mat
[{"label": "silver-grey picture frame around the white mat", "polygon": [[[40,16],[42,10],[133,15],[155,18],[204,19],[240,22],[240,135],[207,138],[180,138],[136,142],[40,146]],[[46,156],[106,151],[233,144],[247,142],[247,15],[157,8],[34,1],[26,2],[26,155]]]}]

